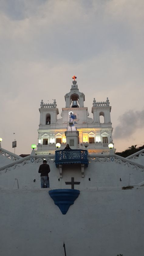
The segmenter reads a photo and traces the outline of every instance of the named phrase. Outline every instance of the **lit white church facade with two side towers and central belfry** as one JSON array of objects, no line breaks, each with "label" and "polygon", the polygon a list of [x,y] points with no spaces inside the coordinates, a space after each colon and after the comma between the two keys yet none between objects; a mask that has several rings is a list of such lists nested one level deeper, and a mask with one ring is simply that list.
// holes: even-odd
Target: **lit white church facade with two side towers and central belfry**
[{"label": "lit white church facade with two side towers and central belfry", "polygon": [[[73,125],[79,132],[77,145],[70,141],[72,149],[84,149],[85,143],[88,143],[88,153],[109,153],[108,144],[113,143],[112,125],[111,125],[111,106],[108,98],[104,102],[93,100],[91,112],[93,118],[89,118],[87,107],[84,106],[85,95],[79,92],[77,81],[73,81],[70,92],[65,95],[65,108],[62,108],[62,118],[57,119],[59,110],[56,100],[51,104],[41,101],[40,123],[38,130],[37,154],[54,153],[56,144],[60,143],[63,149],[68,143],[65,131],[69,126],[70,115],[73,115]],[[100,122],[100,117],[103,123]],[[74,129],[74,128],[73,128]]]}]

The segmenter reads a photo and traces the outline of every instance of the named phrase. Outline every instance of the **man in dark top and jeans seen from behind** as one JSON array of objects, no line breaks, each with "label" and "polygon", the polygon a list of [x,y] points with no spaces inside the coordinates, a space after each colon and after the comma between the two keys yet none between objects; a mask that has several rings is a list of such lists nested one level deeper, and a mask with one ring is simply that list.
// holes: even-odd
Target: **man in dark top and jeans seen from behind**
[{"label": "man in dark top and jeans seen from behind", "polygon": [[39,166],[39,173],[40,175],[40,181],[41,181],[41,188],[46,188],[50,187],[50,181],[49,181],[49,175],[48,173],[50,172],[50,166],[47,164],[46,160],[43,160],[43,164]]}]

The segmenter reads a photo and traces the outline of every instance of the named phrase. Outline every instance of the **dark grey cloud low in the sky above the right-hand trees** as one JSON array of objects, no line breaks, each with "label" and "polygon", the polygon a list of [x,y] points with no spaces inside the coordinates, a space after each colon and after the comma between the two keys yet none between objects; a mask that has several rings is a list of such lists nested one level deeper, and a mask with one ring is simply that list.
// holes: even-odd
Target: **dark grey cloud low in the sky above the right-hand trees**
[{"label": "dark grey cloud low in the sky above the right-hand trees", "polygon": [[135,130],[144,125],[144,109],[141,111],[129,110],[118,118],[119,124],[115,128],[114,138],[123,139],[131,137]]}]

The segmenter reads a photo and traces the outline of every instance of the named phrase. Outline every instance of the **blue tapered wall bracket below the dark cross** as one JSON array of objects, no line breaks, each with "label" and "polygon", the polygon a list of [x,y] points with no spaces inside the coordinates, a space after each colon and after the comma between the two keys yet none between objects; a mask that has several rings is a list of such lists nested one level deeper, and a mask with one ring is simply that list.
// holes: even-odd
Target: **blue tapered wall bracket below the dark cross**
[{"label": "blue tapered wall bracket below the dark cross", "polygon": [[75,199],[79,196],[80,191],[77,189],[53,189],[49,191],[50,197],[60,208],[62,214],[66,214],[70,205],[74,204]]}]

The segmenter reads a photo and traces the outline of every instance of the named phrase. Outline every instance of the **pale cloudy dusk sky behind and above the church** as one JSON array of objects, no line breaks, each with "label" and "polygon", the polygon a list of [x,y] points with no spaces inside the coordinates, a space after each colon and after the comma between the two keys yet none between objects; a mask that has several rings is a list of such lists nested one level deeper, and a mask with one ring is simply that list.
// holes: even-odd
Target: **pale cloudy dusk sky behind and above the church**
[{"label": "pale cloudy dusk sky behind and above the church", "polygon": [[0,45],[3,148],[30,154],[41,99],[61,113],[73,75],[89,117],[109,98],[117,151],[144,144],[143,0],[0,0]]}]

